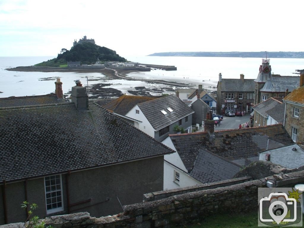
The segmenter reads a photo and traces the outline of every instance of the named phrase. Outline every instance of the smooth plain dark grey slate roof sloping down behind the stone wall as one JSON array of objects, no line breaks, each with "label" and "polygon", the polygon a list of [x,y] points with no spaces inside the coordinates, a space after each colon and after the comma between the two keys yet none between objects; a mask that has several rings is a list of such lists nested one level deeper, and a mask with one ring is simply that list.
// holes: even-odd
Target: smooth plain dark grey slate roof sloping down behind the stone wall
[{"label": "smooth plain dark grey slate roof sloping down behind the stone wall", "polygon": [[241,166],[206,149],[199,149],[190,176],[202,183],[232,179]]}]

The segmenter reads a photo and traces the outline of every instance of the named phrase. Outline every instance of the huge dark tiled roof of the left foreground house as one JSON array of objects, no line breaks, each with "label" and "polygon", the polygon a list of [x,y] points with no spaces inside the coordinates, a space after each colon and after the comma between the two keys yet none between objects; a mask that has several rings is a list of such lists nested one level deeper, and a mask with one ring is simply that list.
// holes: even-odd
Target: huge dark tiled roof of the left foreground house
[{"label": "huge dark tiled roof of the left foreground house", "polygon": [[0,183],[173,153],[92,101],[2,109],[0,125]]}]

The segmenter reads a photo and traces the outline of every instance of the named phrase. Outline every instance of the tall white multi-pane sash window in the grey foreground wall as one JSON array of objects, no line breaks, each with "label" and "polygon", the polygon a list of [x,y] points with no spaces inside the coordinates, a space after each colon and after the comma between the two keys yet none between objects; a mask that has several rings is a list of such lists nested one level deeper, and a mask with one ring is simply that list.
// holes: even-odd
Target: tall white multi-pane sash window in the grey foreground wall
[{"label": "tall white multi-pane sash window in the grey foreground wall", "polygon": [[[60,179],[60,183],[56,183],[56,179],[58,179],[59,176],[59,179]],[[55,177],[55,184],[51,183],[51,177]],[[46,180],[46,178],[50,178],[50,180]],[[48,186],[46,184],[46,182],[50,181],[50,186]],[[60,185],[60,186],[58,186]],[[52,187],[55,187],[55,189],[52,190]],[[60,187],[60,189],[57,187]],[[48,188],[48,190],[47,190]],[[60,212],[60,211],[63,211],[64,210],[64,207],[63,207],[63,195],[62,195],[62,177],[61,177],[61,174],[57,174],[57,175],[52,175],[52,176],[47,176],[47,177],[44,177],[44,192],[45,192],[45,207],[46,207],[46,210],[47,210],[47,214],[52,214],[52,213],[55,213],[55,212]],[[48,199],[50,198],[52,200],[52,198],[56,198],[56,202],[54,203],[57,203],[57,197],[59,196],[58,195],[58,192],[60,192],[60,197],[61,197],[61,206],[60,207],[56,207],[56,208],[52,208],[52,209],[47,209],[47,206],[50,205],[50,203],[48,203]],[[53,196],[52,197],[52,193],[55,193],[56,194],[56,197]],[[48,195],[48,194],[51,194],[51,195]],[[47,196],[51,196],[51,197],[47,197]],[[53,203],[53,202],[51,202]]]}]

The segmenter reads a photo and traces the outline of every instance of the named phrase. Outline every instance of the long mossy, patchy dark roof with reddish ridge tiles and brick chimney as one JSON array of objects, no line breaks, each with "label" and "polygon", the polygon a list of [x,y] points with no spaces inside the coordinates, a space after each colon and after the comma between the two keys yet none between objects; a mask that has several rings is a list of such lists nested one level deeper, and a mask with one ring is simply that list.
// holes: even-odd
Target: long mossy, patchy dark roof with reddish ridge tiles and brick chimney
[{"label": "long mossy, patchy dark roof with reddish ridge tiles and brick chimney", "polygon": [[258,152],[275,148],[275,143],[269,144],[268,138],[283,145],[294,143],[282,124],[216,131],[214,135],[210,137],[207,132],[170,135],[187,170],[192,169],[200,148],[228,160],[237,160],[254,157]]}]

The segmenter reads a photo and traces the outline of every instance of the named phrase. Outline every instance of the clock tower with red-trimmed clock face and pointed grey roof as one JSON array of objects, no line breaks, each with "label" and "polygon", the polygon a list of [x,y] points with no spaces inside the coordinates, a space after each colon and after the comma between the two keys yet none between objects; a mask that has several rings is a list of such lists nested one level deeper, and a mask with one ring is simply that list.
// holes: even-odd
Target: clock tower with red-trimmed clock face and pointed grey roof
[{"label": "clock tower with red-trimmed clock face and pointed grey roof", "polygon": [[267,80],[272,80],[271,75],[271,66],[269,65],[269,58],[262,58],[262,65],[259,68],[259,74],[257,75],[257,79],[254,80],[255,82],[255,97],[254,97],[254,105],[261,102],[261,92],[260,90],[263,88],[265,82]]}]

